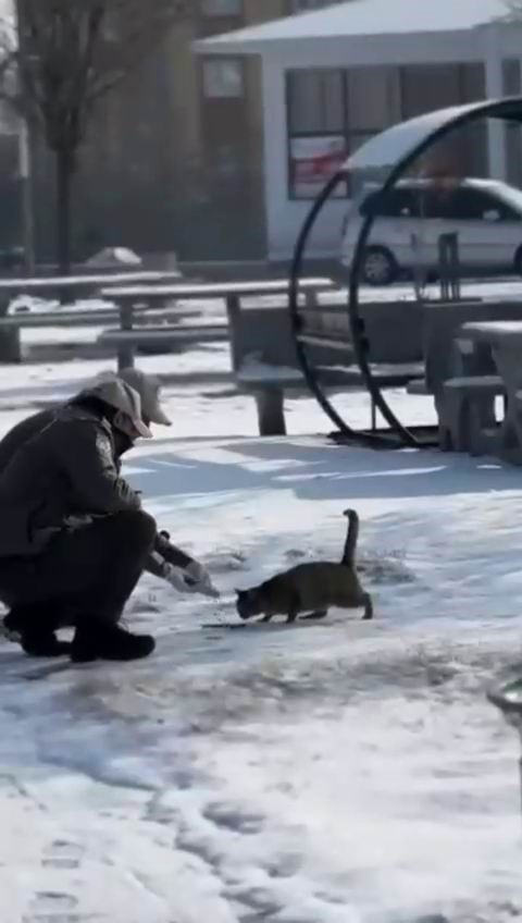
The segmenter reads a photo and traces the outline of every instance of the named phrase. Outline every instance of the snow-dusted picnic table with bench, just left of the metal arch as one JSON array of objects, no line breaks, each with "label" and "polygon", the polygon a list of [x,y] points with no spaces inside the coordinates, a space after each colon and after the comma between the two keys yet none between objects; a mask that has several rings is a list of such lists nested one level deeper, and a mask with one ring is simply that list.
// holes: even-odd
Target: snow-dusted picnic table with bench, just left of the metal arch
[{"label": "snow-dusted picnic table with bench, just left of the metal arch", "polygon": [[[336,288],[332,279],[309,278],[301,280],[299,292],[302,294],[307,305],[316,305],[318,294]],[[197,342],[198,330],[201,324],[184,324],[178,332],[171,328],[158,329],[157,331],[144,331],[135,328],[135,310],[153,306],[167,305],[172,301],[208,301],[224,300],[226,306],[227,321],[216,320],[214,323],[204,324],[206,337],[211,337],[212,328],[215,330],[215,339],[222,339],[224,332],[240,323],[241,301],[247,298],[266,298],[284,296],[288,298],[289,282],[287,279],[254,281],[254,282],[222,282],[217,284],[202,283],[196,285],[124,285],[102,290],[104,299],[111,300],[120,311],[120,330],[105,331],[99,337],[100,343],[116,347],[117,366],[125,368],[134,362],[134,354],[137,346],[150,344],[154,341],[160,344],[163,340],[165,346],[179,339],[187,342],[191,335]],[[190,333],[189,333],[190,332]]]}]

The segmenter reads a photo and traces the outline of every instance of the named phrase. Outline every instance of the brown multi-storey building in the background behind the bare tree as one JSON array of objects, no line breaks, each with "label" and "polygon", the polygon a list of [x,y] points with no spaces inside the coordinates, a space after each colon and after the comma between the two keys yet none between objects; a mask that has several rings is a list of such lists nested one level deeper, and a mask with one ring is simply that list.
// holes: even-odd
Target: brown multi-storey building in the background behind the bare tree
[{"label": "brown multi-storey building in the background behind the bare tree", "polygon": [[[161,47],[104,102],[75,180],[74,254],[103,246],[186,260],[266,250],[260,63],[194,54],[194,42],[333,0],[191,0]],[[37,251],[52,259],[54,173],[34,157]]]}]

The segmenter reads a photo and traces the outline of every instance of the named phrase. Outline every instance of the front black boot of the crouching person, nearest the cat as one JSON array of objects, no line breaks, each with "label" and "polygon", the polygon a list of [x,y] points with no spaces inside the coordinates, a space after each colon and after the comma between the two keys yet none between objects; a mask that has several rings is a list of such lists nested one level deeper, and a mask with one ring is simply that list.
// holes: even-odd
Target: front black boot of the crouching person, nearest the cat
[{"label": "front black boot of the crouching person, nearest the cat", "polygon": [[137,661],[148,657],[156,648],[151,635],[132,635],[120,625],[86,619],[76,628],[71,649],[73,663]]}]

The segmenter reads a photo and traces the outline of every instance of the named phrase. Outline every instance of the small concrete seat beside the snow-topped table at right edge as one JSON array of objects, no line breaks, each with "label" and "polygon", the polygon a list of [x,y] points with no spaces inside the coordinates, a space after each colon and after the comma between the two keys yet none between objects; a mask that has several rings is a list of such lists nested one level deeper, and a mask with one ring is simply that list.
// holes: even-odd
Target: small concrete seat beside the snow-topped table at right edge
[{"label": "small concrete seat beside the snow-topped table at right edge", "polygon": [[498,438],[495,398],[506,395],[500,376],[450,378],[444,384],[439,415],[439,447],[443,452],[494,452]]}]

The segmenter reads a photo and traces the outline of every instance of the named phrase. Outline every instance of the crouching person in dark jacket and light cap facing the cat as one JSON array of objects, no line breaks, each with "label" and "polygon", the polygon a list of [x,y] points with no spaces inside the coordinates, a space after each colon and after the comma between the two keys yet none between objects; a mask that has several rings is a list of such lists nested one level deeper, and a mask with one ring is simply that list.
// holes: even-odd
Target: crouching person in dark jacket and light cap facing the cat
[{"label": "crouching person in dark jacket and light cap facing the cat", "polygon": [[[120,626],[158,545],[120,476],[117,445],[150,438],[137,391],[119,379],[82,392],[0,471],[0,600],[27,654],[129,661],[154,649]],[[71,644],[57,638],[75,629]]]}]

